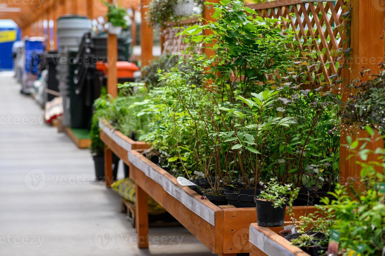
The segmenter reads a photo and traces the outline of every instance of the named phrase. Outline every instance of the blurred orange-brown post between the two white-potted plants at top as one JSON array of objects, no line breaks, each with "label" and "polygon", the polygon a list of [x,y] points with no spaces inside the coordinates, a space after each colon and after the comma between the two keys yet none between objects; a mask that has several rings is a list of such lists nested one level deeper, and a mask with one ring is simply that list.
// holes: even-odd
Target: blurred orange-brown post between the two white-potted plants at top
[{"label": "blurred orange-brown post between the two white-potted plants at top", "polygon": [[146,66],[152,60],[152,45],[154,44],[152,27],[147,23],[146,13],[148,12],[148,7],[151,0],[143,0],[141,6],[141,66]]}]

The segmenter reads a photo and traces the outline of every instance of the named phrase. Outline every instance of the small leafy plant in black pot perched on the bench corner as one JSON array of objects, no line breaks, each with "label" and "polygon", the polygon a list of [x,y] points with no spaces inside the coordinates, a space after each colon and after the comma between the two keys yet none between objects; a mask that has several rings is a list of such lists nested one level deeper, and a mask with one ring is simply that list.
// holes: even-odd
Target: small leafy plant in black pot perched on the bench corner
[{"label": "small leafy plant in black pot perched on the bench corner", "polygon": [[257,208],[257,223],[263,227],[283,226],[286,206],[292,206],[298,196],[299,188],[278,184],[275,179],[268,182],[266,189],[254,197]]}]

